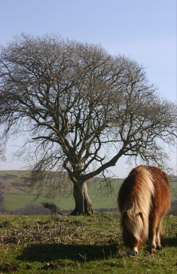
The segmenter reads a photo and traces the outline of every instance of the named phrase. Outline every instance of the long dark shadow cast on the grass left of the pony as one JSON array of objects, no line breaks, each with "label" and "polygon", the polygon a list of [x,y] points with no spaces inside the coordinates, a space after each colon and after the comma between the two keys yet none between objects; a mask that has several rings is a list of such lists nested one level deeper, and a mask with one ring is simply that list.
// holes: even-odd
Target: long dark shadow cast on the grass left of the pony
[{"label": "long dark shadow cast on the grass left of the pony", "polygon": [[[104,253],[103,253],[104,250]],[[87,244],[32,244],[23,249],[22,254],[17,256],[17,260],[26,262],[46,262],[58,259],[70,259],[73,261],[83,261],[79,255],[85,255],[87,261],[95,261],[117,254],[117,244],[110,245],[87,245]]]}]

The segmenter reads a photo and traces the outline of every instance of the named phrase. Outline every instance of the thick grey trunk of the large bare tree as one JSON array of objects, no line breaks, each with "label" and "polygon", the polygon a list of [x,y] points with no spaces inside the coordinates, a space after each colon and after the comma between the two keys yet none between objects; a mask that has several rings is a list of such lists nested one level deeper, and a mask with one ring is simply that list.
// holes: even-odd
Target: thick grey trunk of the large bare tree
[{"label": "thick grey trunk of the large bare tree", "polygon": [[74,184],[73,195],[75,199],[75,209],[71,212],[71,215],[94,213],[92,210],[92,203],[90,201],[86,182],[80,184]]}]

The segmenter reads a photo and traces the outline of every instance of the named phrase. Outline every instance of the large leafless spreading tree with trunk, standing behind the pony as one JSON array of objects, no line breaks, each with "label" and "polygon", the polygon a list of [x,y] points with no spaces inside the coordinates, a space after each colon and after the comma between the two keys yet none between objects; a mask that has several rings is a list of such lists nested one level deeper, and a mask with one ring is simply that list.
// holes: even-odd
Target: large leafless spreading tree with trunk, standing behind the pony
[{"label": "large leafless spreading tree with trunk, standing behind the pony", "polygon": [[167,169],[163,144],[175,144],[175,105],[160,99],[134,60],[57,35],[21,34],[1,46],[0,77],[4,142],[27,138],[22,152],[38,195],[45,182],[61,194],[72,182],[72,214],[93,212],[86,181],[123,155]]}]

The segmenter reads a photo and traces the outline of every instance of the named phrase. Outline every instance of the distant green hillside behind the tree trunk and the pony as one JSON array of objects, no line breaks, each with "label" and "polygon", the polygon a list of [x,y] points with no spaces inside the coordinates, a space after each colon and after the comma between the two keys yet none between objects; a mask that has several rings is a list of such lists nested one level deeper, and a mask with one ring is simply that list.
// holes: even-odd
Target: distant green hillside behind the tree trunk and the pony
[{"label": "distant green hillside behind the tree trunk and the pony", "polygon": [[[171,185],[173,188],[176,188],[176,177],[170,176]],[[92,201],[92,205],[94,209],[111,209],[116,208],[116,195],[118,193],[118,189],[122,184],[123,179],[112,180],[112,187],[114,188],[115,195],[103,195],[104,190],[98,191],[100,188],[100,179],[93,178],[88,182],[88,192],[89,197]],[[44,189],[43,196],[39,197],[37,201],[33,202],[36,191],[29,193],[26,189],[27,187],[27,172],[26,171],[0,171],[0,210],[19,210],[20,208],[25,207],[33,207],[40,206],[40,210],[42,210],[41,202],[46,201],[45,197],[47,194],[47,189]],[[171,200],[176,200],[175,193],[171,193]],[[96,195],[98,193],[98,195]],[[71,210],[74,209],[74,201],[73,197],[69,197],[67,199],[61,198],[59,200],[59,196],[55,197],[54,200],[49,199],[48,201],[53,201],[57,204],[61,210]],[[48,212],[49,213],[49,212]],[[41,212],[41,214],[43,214]],[[45,213],[44,213],[45,214]]]}]

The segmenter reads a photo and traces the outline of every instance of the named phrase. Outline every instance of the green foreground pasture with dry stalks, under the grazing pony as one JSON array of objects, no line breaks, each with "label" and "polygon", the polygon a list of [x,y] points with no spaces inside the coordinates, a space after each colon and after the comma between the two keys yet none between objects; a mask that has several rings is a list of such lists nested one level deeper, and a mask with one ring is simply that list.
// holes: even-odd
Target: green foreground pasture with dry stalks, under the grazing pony
[{"label": "green foreground pasture with dry stalks, under the grazing pony", "polygon": [[3,273],[176,273],[175,217],[164,218],[163,249],[145,245],[135,258],[126,256],[116,212],[0,218]]}]

